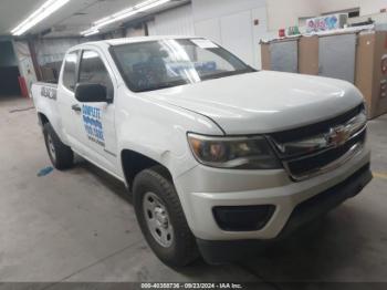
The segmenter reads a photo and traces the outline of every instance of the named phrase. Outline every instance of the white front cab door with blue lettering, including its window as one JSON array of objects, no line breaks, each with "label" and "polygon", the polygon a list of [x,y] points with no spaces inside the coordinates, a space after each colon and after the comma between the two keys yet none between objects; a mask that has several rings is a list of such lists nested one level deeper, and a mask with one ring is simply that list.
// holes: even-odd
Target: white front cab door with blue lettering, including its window
[{"label": "white front cab door with blue lettering, including its window", "polygon": [[75,149],[91,162],[104,169],[117,172],[117,138],[115,132],[115,77],[108,63],[94,49],[81,51],[79,54],[76,83],[98,83],[106,86],[112,103],[81,103],[74,94],[71,103],[67,124],[69,135]]}]

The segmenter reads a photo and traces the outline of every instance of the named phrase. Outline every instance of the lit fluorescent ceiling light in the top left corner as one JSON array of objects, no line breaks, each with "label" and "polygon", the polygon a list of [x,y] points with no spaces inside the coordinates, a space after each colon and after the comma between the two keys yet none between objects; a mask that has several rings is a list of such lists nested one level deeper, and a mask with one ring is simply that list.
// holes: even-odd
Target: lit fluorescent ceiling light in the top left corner
[{"label": "lit fluorescent ceiling light in the top left corner", "polygon": [[11,30],[12,35],[19,37],[24,34],[32,27],[36,25],[43,19],[48,18],[70,0],[48,0],[38,10],[35,10],[31,15],[29,15],[23,22]]}]

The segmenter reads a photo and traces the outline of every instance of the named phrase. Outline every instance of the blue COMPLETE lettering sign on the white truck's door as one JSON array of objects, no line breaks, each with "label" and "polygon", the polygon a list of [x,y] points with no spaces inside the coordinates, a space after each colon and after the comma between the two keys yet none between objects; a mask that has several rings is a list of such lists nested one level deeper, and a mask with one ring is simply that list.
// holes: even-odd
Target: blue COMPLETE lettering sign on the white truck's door
[{"label": "blue COMPLETE lettering sign on the white truck's door", "polygon": [[101,108],[83,105],[83,123],[86,130],[87,138],[105,147],[104,130],[102,127]]}]

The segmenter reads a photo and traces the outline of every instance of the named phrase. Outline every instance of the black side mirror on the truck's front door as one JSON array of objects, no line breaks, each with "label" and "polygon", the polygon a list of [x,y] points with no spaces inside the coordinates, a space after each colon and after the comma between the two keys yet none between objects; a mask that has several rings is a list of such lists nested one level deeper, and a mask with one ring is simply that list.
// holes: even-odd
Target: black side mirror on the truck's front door
[{"label": "black side mirror on the truck's front door", "polygon": [[75,99],[81,103],[109,103],[106,86],[96,83],[79,83]]}]

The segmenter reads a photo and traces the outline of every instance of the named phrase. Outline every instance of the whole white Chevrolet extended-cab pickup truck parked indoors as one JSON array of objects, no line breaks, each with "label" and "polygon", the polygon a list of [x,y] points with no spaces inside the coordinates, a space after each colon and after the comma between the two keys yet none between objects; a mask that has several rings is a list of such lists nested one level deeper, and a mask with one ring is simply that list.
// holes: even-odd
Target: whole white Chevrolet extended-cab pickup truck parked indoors
[{"label": "whole white Chevrolet extended-cab pickup truck parked indoors", "polygon": [[171,267],[284,237],[372,179],[355,86],[255,71],[206,39],[84,43],[32,94],[54,167],[76,153],[125,183]]}]

